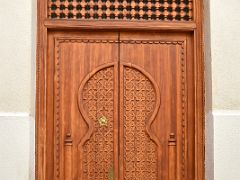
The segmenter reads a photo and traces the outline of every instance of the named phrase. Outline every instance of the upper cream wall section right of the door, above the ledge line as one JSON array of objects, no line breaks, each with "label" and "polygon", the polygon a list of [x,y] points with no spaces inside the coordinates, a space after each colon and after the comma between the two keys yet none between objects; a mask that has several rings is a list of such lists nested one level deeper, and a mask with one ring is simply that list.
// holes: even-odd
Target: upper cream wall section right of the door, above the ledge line
[{"label": "upper cream wall section right of the door, above the ledge line", "polygon": [[211,0],[213,109],[240,110],[240,1]]}]

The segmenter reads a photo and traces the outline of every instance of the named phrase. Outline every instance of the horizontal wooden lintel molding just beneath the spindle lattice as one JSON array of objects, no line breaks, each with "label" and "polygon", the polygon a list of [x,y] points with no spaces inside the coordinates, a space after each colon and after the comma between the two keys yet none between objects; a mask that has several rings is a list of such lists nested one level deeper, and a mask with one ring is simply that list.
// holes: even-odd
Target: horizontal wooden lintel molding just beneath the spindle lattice
[{"label": "horizontal wooden lintel molding just beneath the spindle lattice", "polygon": [[193,32],[196,29],[195,22],[159,22],[159,21],[79,21],[76,20],[60,20],[45,19],[44,26],[48,29],[75,29],[75,30],[167,30]]}]

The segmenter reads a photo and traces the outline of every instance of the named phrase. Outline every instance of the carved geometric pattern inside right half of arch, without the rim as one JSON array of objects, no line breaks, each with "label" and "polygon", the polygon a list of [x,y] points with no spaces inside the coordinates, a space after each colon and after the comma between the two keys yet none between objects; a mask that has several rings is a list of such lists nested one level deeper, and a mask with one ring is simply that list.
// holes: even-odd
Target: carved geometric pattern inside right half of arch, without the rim
[{"label": "carved geometric pattern inside right half of arch, without the rim", "polygon": [[157,145],[146,131],[156,104],[153,84],[140,71],[124,68],[124,179],[157,180]]}]

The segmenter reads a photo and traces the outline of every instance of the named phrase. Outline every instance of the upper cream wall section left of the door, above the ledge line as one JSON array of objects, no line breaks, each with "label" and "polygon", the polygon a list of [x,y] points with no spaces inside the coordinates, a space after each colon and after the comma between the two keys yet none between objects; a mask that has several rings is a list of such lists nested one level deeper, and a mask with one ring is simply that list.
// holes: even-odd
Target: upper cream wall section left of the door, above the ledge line
[{"label": "upper cream wall section left of the door, above the ledge line", "polygon": [[29,112],[32,76],[31,0],[1,1],[0,111]]}]

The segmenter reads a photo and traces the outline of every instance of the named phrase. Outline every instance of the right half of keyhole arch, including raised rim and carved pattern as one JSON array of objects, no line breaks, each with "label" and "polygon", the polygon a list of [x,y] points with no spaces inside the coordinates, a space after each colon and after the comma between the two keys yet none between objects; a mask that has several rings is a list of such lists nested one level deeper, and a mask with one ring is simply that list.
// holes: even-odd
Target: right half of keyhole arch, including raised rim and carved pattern
[{"label": "right half of keyhole arch, including raised rim and carved pattern", "polygon": [[159,89],[150,74],[136,65],[121,62],[120,179],[158,179],[160,143],[150,126],[159,105]]}]

